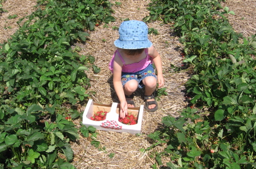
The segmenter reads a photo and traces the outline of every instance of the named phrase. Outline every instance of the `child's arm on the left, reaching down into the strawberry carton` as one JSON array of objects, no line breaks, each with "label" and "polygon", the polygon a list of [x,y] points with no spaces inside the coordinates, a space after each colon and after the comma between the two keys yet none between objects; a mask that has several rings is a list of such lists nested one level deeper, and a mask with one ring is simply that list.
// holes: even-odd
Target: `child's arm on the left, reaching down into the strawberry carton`
[{"label": "child's arm on the left, reaching down into the strawberry carton", "polygon": [[121,82],[121,71],[123,63],[119,57],[115,57],[113,62],[113,85],[116,91],[116,94],[120,100],[120,117],[124,118],[127,115],[128,105],[124,95],[123,84]]}]

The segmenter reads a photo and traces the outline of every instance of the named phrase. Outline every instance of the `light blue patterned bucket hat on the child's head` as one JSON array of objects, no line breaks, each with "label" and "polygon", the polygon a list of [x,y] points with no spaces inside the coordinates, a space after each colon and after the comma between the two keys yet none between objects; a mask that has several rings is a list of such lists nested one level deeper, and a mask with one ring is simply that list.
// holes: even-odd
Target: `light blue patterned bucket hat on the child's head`
[{"label": "light blue patterned bucket hat on the child's head", "polygon": [[142,49],[152,46],[148,40],[148,26],[139,20],[128,20],[120,24],[119,39],[114,42],[121,49]]}]

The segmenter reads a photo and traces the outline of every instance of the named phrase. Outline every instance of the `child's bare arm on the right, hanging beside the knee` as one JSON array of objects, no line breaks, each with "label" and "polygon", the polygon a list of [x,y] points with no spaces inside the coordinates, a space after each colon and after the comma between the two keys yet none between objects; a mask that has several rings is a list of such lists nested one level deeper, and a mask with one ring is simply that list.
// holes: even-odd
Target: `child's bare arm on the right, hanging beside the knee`
[{"label": "child's bare arm on the right, hanging beside the knee", "polygon": [[162,62],[160,54],[157,52],[155,47],[148,48],[148,54],[152,57],[152,61],[156,66],[157,71],[157,81],[159,82],[159,87],[164,86],[164,77],[162,76]]}]

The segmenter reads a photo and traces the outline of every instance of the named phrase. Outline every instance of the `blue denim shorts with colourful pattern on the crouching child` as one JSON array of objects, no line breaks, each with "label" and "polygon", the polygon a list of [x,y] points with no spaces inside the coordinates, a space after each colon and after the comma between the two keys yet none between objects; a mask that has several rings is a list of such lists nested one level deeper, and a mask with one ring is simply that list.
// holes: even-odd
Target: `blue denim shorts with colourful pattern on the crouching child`
[{"label": "blue denim shorts with colourful pattern on the crouching child", "polygon": [[135,73],[124,73],[124,72],[122,72],[121,75],[122,75],[121,81],[122,81],[123,86],[128,81],[131,81],[131,80],[135,79],[139,83],[140,88],[143,88],[145,86],[142,82],[143,79],[145,79],[147,77],[155,77],[157,79],[156,74],[155,74],[155,70],[154,70],[152,64],[149,64],[148,67],[146,67],[145,69],[137,71]]}]

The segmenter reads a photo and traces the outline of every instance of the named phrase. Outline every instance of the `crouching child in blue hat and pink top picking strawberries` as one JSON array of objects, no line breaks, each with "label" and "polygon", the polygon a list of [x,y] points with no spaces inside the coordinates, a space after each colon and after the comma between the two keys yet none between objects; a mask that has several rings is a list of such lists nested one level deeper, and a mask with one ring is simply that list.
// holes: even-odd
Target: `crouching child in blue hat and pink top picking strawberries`
[{"label": "crouching child in blue hat and pink top picking strawberries", "polygon": [[153,92],[157,79],[159,87],[164,85],[164,77],[160,54],[148,40],[147,25],[138,20],[124,21],[119,27],[119,39],[114,44],[117,50],[109,63],[109,69],[113,73],[113,86],[120,100],[120,117],[127,115],[128,107],[135,107],[133,92],[137,87],[145,87],[145,109],[156,111],[158,106]]}]

